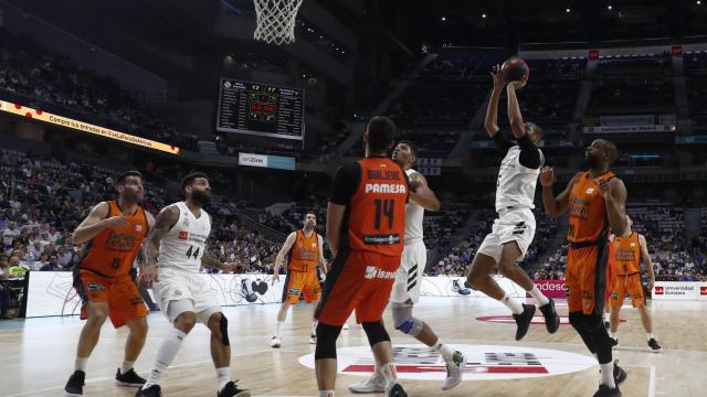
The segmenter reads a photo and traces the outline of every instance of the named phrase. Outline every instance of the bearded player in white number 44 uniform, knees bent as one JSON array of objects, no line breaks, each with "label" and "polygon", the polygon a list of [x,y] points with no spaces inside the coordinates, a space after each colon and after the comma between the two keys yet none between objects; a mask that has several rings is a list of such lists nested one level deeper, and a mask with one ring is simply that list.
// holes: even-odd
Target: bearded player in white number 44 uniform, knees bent
[{"label": "bearded player in white number 44 uniform, knees bent", "polygon": [[223,264],[207,253],[211,215],[203,206],[211,200],[209,178],[190,173],[181,181],[184,201],[165,207],[157,215],[144,251],[146,265],[138,278],[144,288],[152,288],[155,299],[173,328],[157,352],[150,376],[136,397],[161,396],[162,375],[177,356],[187,334],[200,322],[211,331],[211,358],[217,369],[218,397],[249,397],[231,382],[229,322],[221,312],[215,293],[199,275],[201,266],[222,271],[242,269],[240,264]]}]

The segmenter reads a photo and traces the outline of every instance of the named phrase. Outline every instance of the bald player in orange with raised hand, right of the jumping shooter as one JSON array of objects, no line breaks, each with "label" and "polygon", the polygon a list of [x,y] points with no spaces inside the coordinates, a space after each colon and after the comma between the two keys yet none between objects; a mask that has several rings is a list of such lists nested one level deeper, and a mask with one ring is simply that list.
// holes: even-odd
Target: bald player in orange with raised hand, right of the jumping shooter
[{"label": "bald player in orange with raised hand, right of the jumping shooter", "polygon": [[616,146],[597,139],[587,148],[584,160],[589,171],[572,178],[564,191],[555,196],[555,171],[546,167],[540,175],[542,203],[550,217],[569,211],[570,228],[567,239],[564,282],[570,324],[577,330],[601,367],[601,382],[594,397],[619,397],[619,384],[626,373],[613,362],[612,341],[602,323],[604,302],[613,290],[611,286],[615,260],[611,229],[618,236],[625,234],[626,187],[609,170],[619,157]]}]

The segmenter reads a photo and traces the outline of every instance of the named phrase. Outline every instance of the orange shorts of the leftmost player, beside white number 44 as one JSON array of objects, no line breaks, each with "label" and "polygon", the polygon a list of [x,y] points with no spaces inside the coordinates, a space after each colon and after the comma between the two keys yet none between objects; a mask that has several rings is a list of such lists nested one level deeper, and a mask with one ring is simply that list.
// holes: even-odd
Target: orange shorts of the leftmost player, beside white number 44
[{"label": "orange shorts of the leftmost player, beside white number 44", "polygon": [[116,329],[130,320],[147,316],[147,307],[129,275],[106,277],[77,268],[74,269],[73,278],[74,289],[82,301],[82,320],[88,318],[88,302],[107,302],[108,318]]}]

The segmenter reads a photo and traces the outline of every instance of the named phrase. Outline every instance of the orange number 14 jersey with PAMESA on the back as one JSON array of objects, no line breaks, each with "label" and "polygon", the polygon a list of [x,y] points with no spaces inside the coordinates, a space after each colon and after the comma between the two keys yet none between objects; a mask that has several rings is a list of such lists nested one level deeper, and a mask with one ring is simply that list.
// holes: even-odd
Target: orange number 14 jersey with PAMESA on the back
[{"label": "orange number 14 jersey with PAMESA on the back", "polygon": [[405,235],[408,180],[388,158],[358,161],[361,181],[348,208],[348,247],[401,256]]}]

